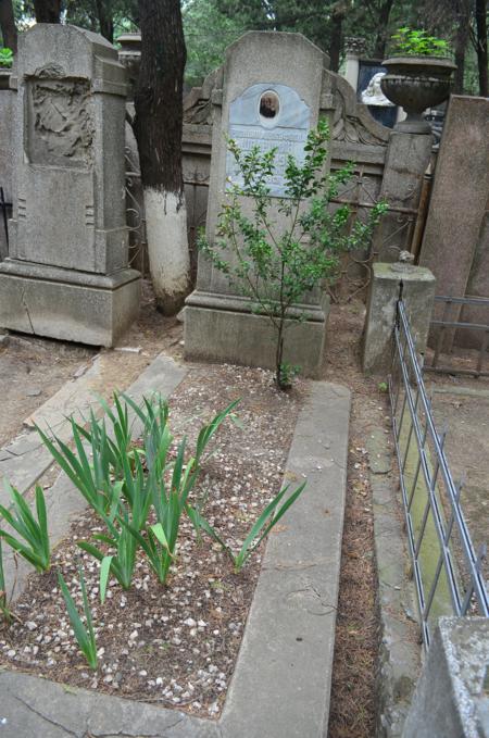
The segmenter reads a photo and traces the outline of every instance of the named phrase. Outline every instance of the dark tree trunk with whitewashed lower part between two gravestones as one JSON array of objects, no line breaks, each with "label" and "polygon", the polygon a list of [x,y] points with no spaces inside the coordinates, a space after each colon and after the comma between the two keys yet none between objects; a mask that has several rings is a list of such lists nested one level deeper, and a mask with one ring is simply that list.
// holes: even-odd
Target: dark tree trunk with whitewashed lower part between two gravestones
[{"label": "dark tree trunk with whitewashed lower part between two gravestones", "polygon": [[141,66],[135,134],[145,192],[150,273],[159,309],[179,310],[190,259],[181,172],[186,49],[179,0],[139,0]]}]

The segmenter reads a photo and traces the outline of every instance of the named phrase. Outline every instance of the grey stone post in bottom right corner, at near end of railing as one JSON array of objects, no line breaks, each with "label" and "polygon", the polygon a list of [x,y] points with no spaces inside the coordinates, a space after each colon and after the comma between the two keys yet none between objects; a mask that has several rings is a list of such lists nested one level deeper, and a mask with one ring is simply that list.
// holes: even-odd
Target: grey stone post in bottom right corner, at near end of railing
[{"label": "grey stone post in bottom right corner, at near end of railing", "polygon": [[489,620],[441,617],[402,738],[488,738]]}]

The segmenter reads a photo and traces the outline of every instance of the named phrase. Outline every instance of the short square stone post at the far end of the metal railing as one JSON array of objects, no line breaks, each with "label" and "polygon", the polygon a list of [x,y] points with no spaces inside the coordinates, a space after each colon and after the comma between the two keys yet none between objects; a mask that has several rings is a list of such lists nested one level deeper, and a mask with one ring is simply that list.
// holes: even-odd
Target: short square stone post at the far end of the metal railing
[{"label": "short square stone post at the far end of the metal railing", "polygon": [[389,373],[401,283],[414,345],[418,353],[424,352],[435,299],[435,282],[431,272],[422,266],[399,262],[374,264],[363,339],[362,364],[365,374],[385,377]]}]

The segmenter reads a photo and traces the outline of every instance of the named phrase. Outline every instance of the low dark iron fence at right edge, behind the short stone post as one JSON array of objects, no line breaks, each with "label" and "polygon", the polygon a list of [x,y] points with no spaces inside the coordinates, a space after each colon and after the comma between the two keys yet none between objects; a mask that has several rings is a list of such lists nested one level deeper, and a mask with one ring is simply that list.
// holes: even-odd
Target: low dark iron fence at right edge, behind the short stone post
[{"label": "low dark iron fence at right edge, behind the short stone post", "polygon": [[[430,337],[434,345],[434,352],[429,364],[425,365],[425,372],[441,372],[444,374],[469,374],[472,376],[489,376],[488,349],[489,349],[489,298],[480,297],[446,297],[437,296],[435,298],[435,308],[437,304],[443,304],[441,317],[431,320]],[[464,314],[466,309],[476,309],[479,314],[485,311],[484,323],[465,320]],[[463,320],[460,320],[462,315]],[[453,357],[452,348],[455,340],[455,334],[471,333],[475,338],[478,336],[478,341],[475,338],[473,346],[478,343],[473,355]],[[428,340],[429,340],[428,338]]]}]

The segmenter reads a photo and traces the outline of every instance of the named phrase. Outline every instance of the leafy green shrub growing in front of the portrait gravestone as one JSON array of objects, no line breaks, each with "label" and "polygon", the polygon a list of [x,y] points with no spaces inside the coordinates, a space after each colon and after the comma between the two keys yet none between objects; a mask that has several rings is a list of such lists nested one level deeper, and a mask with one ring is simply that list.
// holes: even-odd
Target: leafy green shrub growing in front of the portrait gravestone
[{"label": "leafy green shrub growing in front of the portrait gravestone", "polygon": [[[364,247],[387,205],[377,203],[365,223],[351,218],[348,205],[329,205],[341,185],[353,174],[353,164],[325,174],[328,126],[324,121],[311,130],[304,146],[304,162],[287,158],[284,198],[271,196],[268,178],[275,170],[277,149],[258,146],[242,152],[229,139],[228,149],[237,164],[241,184],[229,184],[228,198],[218,216],[215,243],[203,235],[199,248],[214,266],[250,298],[254,312],[266,315],[277,335],[276,381],[286,388],[284,335],[290,322],[306,317],[297,309],[305,296],[333,280],[340,255]],[[248,213],[251,209],[251,215]],[[276,213],[285,227],[279,229]],[[281,367],[281,368],[280,368]]]}]

